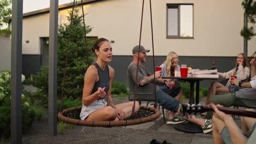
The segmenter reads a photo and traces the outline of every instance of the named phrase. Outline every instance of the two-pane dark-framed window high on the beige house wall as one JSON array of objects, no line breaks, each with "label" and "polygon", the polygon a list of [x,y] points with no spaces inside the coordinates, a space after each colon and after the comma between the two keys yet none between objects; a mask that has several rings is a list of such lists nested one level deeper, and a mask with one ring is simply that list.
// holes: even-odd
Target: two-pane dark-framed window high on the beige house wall
[{"label": "two-pane dark-framed window high on the beige house wall", "polygon": [[167,38],[193,38],[193,4],[167,4]]}]

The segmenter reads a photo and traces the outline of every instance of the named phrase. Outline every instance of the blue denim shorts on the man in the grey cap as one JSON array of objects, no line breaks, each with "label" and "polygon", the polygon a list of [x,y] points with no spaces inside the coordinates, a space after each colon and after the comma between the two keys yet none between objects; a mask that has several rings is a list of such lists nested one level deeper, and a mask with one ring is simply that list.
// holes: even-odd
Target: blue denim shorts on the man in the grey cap
[{"label": "blue denim shorts on the man in the grey cap", "polygon": [[156,95],[158,96],[159,105],[164,107],[164,109],[170,110],[170,111],[173,111],[173,112],[178,111],[179,101],[177,99],[174,99],[173,97],[170,97],[170,95],[161,91],[161,89],[159,89],[159,91],[156,92]]}]

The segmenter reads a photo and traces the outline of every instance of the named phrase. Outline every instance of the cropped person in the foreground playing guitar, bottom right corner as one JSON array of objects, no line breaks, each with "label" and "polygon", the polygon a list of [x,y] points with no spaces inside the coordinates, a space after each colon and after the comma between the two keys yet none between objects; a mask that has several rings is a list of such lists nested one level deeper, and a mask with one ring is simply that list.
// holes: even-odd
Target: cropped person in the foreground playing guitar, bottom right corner
[{"label": "cropped person in the foreground playing guitar, bottom right corner", "polygon": [[230,115],[219,111],[214,104],[210,106],[214,110],[212,118],[214,143],[256,143],[256,118],[241,117],[241,129],[239,129]]}]

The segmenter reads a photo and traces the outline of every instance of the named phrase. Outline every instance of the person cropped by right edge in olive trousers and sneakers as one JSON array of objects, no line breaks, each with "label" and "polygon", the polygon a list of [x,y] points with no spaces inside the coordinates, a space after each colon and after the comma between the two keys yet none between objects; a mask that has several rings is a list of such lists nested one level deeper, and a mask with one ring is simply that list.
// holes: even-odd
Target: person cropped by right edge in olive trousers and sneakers
[{"label": "person cropped by right edge in olive trousers and sneakers", "polygon": [[[256,107],[256,57],[251,60],[251,81],[249,82],[238,82],[236,79],[230,80],[231,85],[242,87],[235,93],[228,93],[223,95],[214,95],[211,97],[209,102],[213,104],[220,104],[226,107],[229,106],[243,106],[243,107]],[[204,133],[208,133],[212,130],[212,118],[213,113],[207,112],[205,118],[199,119],[194,116],[188,120],[195,122],[202,126]]]}]

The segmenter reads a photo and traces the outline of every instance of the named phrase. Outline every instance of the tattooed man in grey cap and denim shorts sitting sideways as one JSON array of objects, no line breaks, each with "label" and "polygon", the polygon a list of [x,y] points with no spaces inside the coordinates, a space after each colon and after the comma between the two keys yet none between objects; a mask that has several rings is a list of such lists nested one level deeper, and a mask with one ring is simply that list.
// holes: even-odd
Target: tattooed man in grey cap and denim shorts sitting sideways
[{"label": "tattooed man in grey cap and denim shorts sitting sideways", "polygon": [[[140,51],[139,51],[140,50]],[[139,52],[139,54],[138,54]],[[138,93],[154,93],[154,75],[150,75],[144,65],[146,62],[147,52],[149,50],[144,49],[141,45],[135,46],[132,49],[133,61],[130,63],[127,68],[127,76],[129,81],[129,89],[130,92],[134,93],[135,86],[137,87]],[[136,71],[137,71],[137,63],[138,63],[138,76],[137,76],[137,85],[136,85]],[[155,80],[157,85],[164,85],[164,80],[159,80],[161,77],[161,71],[155,71]],[[178,124],[182,123],[185,120],[174,115],[174,112],[179,111],[180,103],[177,99],[170,97],[167,93],[161,91],[158,86],[156,86],[156,95],[158,103],[164,107],[164,109],[170,110],[170,114],[168,116],[167,124]]]}]

